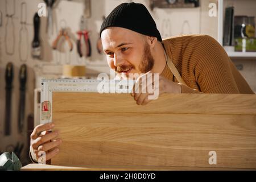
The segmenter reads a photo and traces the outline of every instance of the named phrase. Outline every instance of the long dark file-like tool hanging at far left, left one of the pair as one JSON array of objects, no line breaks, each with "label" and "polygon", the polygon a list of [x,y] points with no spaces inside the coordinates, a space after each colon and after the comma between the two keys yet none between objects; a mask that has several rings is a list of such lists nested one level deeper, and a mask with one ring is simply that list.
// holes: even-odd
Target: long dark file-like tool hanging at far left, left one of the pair
[{"label": "long dark file-like tool hanging at far left, left one of the pair", "polygon": [[13,63],[8,63],[6,65],[5,82],[5,135],[8,136],[11,134],[11,91],[13,89]]}]

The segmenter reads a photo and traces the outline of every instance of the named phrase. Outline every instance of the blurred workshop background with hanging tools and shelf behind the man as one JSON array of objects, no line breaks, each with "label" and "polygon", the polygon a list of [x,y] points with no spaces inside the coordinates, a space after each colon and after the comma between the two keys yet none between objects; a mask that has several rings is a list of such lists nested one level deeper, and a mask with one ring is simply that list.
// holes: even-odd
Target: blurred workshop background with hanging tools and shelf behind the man
[{"label": "blurred workshop background with hanging tools and shelf behind the man", "polygon": [[254,0],[0,0],[0,154],[15,151],[23,165],[30,162],[42,78],[110,74],[99,30],[123,2],[143,3],[163,39],[212,36],[256,92]]}]

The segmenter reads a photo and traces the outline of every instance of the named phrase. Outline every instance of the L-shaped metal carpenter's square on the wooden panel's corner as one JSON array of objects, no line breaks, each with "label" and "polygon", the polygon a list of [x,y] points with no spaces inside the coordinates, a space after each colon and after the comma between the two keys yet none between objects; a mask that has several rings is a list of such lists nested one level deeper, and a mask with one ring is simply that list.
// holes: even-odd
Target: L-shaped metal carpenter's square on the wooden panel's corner
[{"label": "L-shaped metal carpenter's square on the wooden panel's corner", "polygon": [[40,123],[52,122],[53,92],[131,93],[134,80],[42,79]]}]

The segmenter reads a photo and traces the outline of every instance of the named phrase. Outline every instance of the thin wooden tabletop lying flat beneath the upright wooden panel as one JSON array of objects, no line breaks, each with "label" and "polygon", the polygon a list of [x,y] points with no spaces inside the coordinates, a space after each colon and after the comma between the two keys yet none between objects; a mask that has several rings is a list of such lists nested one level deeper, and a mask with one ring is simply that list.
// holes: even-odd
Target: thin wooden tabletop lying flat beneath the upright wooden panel
[{"label": "thin wooden tabletop lying flat beneath the upright wooden panel", "polygon": [[53,166],[46,164],[28,164],[20,169],[21,171],[210,171],[210,170],[247,170],[234,168],[205,168],[205,167],[158,167],[158,166],[85,166],[67,167]]}]

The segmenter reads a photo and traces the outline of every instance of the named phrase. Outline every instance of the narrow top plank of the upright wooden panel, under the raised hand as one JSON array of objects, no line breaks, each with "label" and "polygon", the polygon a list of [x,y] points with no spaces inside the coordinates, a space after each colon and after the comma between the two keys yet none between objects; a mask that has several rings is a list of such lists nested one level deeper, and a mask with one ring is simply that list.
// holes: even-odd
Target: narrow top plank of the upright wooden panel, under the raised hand
[{"label": "narrow top plank of the upright wooden panel, under the raised hand", "polygon": [[137,105],[130,94],[53,92],[53,112],[256,114],[255,94],[163,94]]}]

